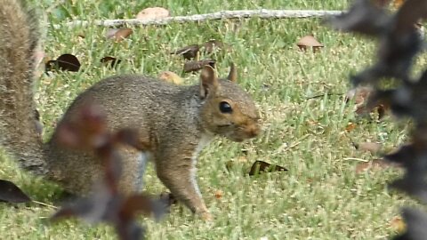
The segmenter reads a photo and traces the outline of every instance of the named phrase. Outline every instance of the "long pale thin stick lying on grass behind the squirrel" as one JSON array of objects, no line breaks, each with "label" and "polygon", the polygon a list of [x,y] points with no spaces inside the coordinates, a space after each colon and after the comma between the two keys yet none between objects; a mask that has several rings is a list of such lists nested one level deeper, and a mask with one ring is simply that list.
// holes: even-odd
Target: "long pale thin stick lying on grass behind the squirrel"
[{"label": "long pale thin stick lying on grass behind the squirrel", "polygon": [[[196,14],[190,16],[168,17],[160,20],[74,20],[65,25],[71,28],[87,27],[89,25],[104,26],[104,27],[119,27],[119,26],[146,26],[146,25],[166,25],[172,22],[201,22],[205,20],[230,20],[230,19],[287,19],[287,18],[312,18],[326,17],[342,14],[342,11],[323,11],[323,10],[237,10],[237,11],[221,11],[206,14]],[[61,25],[53,25],[53,28],[60,28]]]}]

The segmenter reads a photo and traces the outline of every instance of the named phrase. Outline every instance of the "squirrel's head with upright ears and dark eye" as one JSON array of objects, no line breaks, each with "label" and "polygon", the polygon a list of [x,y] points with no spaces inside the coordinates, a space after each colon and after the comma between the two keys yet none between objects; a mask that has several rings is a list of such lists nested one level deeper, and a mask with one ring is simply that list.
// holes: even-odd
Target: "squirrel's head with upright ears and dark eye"
[{"label": "squirrel's head with upright ears and dark eye", "polygon": [[234,64],[227,79],[219,79],[214,68],[206,65],[200,74],[200,98],[205,100],[201,115],[205,130],[242,141],[256,137],[261,124],[254,100],[236,81]]}]

